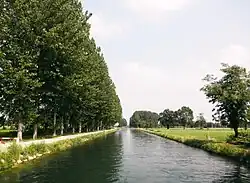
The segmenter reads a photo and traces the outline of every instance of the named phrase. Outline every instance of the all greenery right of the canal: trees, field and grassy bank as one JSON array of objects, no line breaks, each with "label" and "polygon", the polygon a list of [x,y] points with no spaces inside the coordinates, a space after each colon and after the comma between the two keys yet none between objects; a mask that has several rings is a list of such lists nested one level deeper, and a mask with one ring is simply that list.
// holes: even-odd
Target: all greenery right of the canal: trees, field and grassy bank
[{"label": "all greenery right of the canal: trees, field and grassy bank", "polygon": [[[214,122],[207,122],[202,113],[194,120],[193,110],[183,106],[175,111],[165,109],[159,114],[135,111],[130,118],[130,127],[149,128],[144,130],[249,165],[250,73],[246,68],[224,63],[221,71],[221,78],[207,75],[204,78],[207,83],[201,88],[209,102],[214,104]],[[214,127],[219,129],[214,130]],[[239,128],[244,130],[239,131]]]}]

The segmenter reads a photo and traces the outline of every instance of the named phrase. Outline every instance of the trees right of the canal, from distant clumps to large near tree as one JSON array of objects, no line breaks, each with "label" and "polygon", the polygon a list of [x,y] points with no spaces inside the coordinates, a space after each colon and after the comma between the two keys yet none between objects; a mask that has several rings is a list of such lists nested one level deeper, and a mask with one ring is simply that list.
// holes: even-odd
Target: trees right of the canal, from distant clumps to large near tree
[{"label": "trees right of the canal, from distant clumps to large near tree", "polygon": [[235,137],[238,137],[238,128],[244,126],[247,129],[250,122],[250,73],[246,68],[228,64],[222,64],[221,71],[223,76],[220,79],[207,75],[204,78],[207,84],[201,88],[209,102],[215,105],[212,117],[217,123],[207,123],[203,114],[199,114],[194,121],[192,109],[183,106],[177,111],[165,109],[159,117],[153,112],[136,111],[130,118],[130,126],[156,127],[159,122],[167,128],[174,126],[203,128],[218,127],[220,124],[233,128]]}]

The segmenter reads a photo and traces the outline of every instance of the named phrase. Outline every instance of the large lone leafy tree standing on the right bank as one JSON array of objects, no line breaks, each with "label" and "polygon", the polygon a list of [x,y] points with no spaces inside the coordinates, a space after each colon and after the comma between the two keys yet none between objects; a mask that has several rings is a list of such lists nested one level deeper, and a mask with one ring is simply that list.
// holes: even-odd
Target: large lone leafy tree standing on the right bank
[{"label": "large lone leafy tree standing on the right bank", "polygon": [[250,101],[250,74],[245,68],[227,64],[222,65],[224,76],[217,79],[207,75],[208,82],[201,90],[209,102],[215,104],[214,118],[229,123],[238,136],[238,127],[241,122],[247,121],[247,109]]}]

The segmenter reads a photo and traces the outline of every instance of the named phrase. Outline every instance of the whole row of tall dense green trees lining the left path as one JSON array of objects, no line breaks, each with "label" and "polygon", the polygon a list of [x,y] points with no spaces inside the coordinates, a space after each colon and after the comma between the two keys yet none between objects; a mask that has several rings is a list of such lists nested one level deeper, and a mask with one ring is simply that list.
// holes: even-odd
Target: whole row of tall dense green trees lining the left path
[{"label": "whole row of tall dense green trees lining the left path", "polygon": [[[122,108],[79,0],[1,0],[0,116],[56,135],[109,128]],[[4,120],[3,120],[4,119]]]}]

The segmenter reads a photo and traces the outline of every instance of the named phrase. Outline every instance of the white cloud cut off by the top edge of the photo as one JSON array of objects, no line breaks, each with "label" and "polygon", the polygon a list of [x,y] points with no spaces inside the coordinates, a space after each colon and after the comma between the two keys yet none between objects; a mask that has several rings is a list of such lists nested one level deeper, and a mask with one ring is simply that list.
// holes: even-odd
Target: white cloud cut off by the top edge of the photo
[{"label": "white cloud cut off by the top edge of the photo", "polygon": [[162,18],[166,12],[179,11],[193,0],[125,0],[129,9],[147,19]]}]

